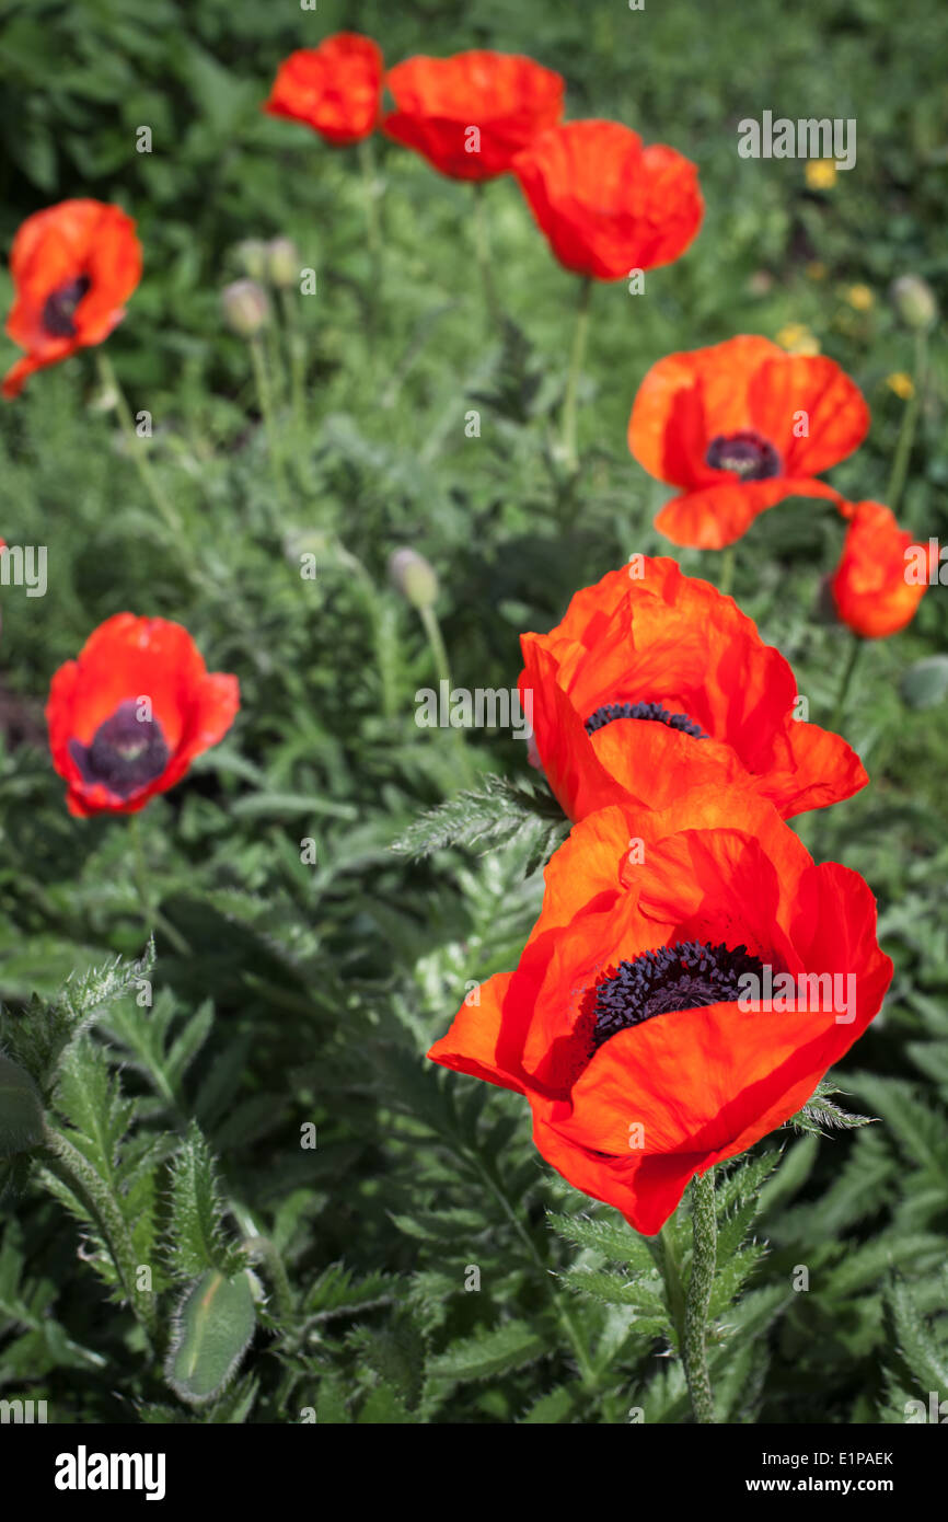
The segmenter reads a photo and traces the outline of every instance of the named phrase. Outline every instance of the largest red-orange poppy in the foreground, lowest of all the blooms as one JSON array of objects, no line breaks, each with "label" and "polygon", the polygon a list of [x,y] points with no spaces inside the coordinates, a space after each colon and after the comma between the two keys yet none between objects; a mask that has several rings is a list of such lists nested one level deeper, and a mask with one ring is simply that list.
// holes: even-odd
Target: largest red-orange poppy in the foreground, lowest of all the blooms
[{"label": "largest red-orange poppy in the foreground, lowest of all the blooms", "polygon": [[428,1055],[525,1094],[543,1157],[651,1234],[694,1173],[805,1105],[878,1012],[892,962],[875,918],[857,872],[814,864],[741,788],[606,808],[549,861],[517,970]]}]

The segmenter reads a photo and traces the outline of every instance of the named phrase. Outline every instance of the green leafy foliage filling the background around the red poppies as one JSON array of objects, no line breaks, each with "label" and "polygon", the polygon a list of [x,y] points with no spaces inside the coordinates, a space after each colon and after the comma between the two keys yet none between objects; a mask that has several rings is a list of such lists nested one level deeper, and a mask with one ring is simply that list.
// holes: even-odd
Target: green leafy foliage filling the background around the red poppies
[{"label": "green leafy foliage filling the background around the red poppies", "polygon": [[[910,23],[884,0],[393,11],[0,3],[3,244],[70,195],[137,218],[145,279],[108,353],[132,409],[152,412],[149,460],[184,522],[170,540],[155,517],[91,355],[35,376],[0,412],[0,533],[49,546],[44,598],[3,589],[0,1049],[32,1073],[56,1138],[32,1169],[24,1154],[8,1166],[0,1396],[47,1399],[55,1420],[312,1409],[320,1422],[612,1423],[631,1408],[688,1420],[680,1365],[657,1356],[677,1326],[654,1253],[543,1166],[514,1096],[422,1059],[466,983],[516,962],[549,819],[517,788],[490,805],[484,855],[484,842],[425,860],[391,851],[457,791],[461,767],[472,782],[525,782],[528,769],[510,738],[475,732],[461,763],[450,734],[415,728],[414,693],[435,673],[385,563],[412,545],[437,568],[460,685],[513,686],[520,630],[548,627],[633,551],[668,549],[651,528],[665,492],[625,447],[648,365],[791,321],[872,406],[870,437],[835,484],[884,499],[905,406],[886,377],[913,368],[887,286],[911,271],[948,301],[943,8],[916,0]],[[356,157],[262,116],[280,58],[341,26],[376,37],[388,62],[530,52],[566,76],[571,116],[616,117],[698,163],[708,215],[694,248],[648,274],[644,297],[622,283],[595,292],[575,490],[552,447],[575,289],[516,184],[487,195],[511,318],[501,342],[469,187],[379,139],[373,283]],[[764,110],[855,117],[857,167],[813,192],[799,161],[740,160],[736,122]],[[142,125],[151,155],[134,151]],[[245,344],[219,309],[234,244],[275,234],[318,272],[318,297],[294,303],[307,411],[297,426],[283,400],[283,493]],[[854,283],[872,289],[869,310],[849,303]],[[6,275],[0,286],[6,309]],[[12,362],[11,344],[0,358]],[[942,542],[946,402],[939,330],[901,516]],[[464,432],[470,408],[479,440]],[[840,539],[817,504],[784,504],[740,543],[735,581],[825,723],[846,636],[817,594]],[[300,577],[306,551],[315,581]],[[718,574],[712,556],[680,560]],[[151,973],[132,965],[146,933],[128,822],[67,816],[41,712],[53,670],[125,607],[184,622],[242,688],[231,735],[142,816],[161,913]],[[948,705],[899,699],[904,673],[943,648],[933,589],[904,635],[867,651],[851,696],[846,732],[872,787],[799,825],[817,857],[869,878],[896,974],[835,1075],[848,1108],[878,1123],[784,1132],[718,1190],[730,1254],[712,1373],[727,1420],[902,1422],[907,1399],[948,1394]],[[315,868],[300,863],[304,837]],[[306,1125],[315,1149],[300,1145]],[[79,1196],[67,1148],[85,1166]],[[103,1219],[110,1199],[117,1216]],[[747,1233],[758,1245],[738,1251]],[[685,1215],[666,1250],[686,1277]],[[134,1291],[142,1263],[151,1295]],[[464,1288],[470,1265],[479,1292]],[[791,1289],[800,1265],[806,1294]],[[195,1285],[230,1297],[222,1326],[201,1320]],[[215,1399],[193,1367],[224,1371]]]}]

